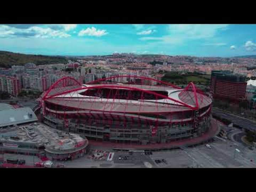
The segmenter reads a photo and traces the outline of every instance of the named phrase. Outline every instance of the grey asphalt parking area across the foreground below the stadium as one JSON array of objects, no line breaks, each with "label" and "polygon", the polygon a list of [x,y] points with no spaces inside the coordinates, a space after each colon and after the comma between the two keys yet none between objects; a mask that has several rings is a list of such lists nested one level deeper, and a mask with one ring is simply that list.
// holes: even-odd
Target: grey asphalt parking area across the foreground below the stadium
[{"label": "grey asphalt parking area across the foreground below the stadium", "polygon": [[[152,155],[144,155],[140,152],[134,152],[133,155],[128,152],[114,152],[112,161],[92,160],[85,155],[72,161],[58,163],[70,168],[146,168],[144,162],[150,163],[153,168],[188,168],[191,166],[195,168],[256,167],[256,150],[252,151],[238,142],[235,143],[223,138],[215,139],[209,145],[212,147],[211,149],[199,145],[192,148],[184,147],[171,151],[157,151],[153,152]],[[235,154],[236,149],[240,150],[238,154]],[[36,156],[17,154],[4,154],[3,156],[4,159],[25,159],[26,165],[33,165],[34,162],[40,161]],[[127,160],[119,160],[124,156],[127,156]],[[166,163],[156,163],[155,160],[157,159],[165,159]]]}]

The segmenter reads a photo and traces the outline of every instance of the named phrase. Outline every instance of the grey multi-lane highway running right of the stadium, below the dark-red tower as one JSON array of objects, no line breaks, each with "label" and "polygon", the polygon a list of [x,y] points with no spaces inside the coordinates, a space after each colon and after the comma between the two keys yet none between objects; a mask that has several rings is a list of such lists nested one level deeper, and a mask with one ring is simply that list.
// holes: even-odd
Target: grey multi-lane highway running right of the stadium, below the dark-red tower
[{"label": "grey multi-lane highway running right of the stadium, below the dark-red tower", "polygon": [[235,126],[239,126],[241,128],[245,128],[249,130],[256,130],[256,123],[249,119],[242,118],[230,113],[225,113],[224,111],[221,111],[215,108],[212,109],[212,113],[219,117],[230,120]]}]

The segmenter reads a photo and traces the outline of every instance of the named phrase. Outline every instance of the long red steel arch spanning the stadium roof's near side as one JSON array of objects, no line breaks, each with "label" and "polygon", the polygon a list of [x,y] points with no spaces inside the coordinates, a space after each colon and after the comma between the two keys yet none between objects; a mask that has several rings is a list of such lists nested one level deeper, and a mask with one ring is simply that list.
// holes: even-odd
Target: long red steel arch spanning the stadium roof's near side
[{"label": "long red steel arch spanning the stadium roof's near side", "polygon": [[172,100],[172,101],[174,101],[174,102],[180,103],[182,106],[191,108],[192,110],[196,110],[196,109],[197,109],[197,107],[192,107],[192,106],[190,106],[190,105],[187,105],[187,104],[184,103],[184,102],[178,101],[178,100],[176,100],[176,99],[174,99],[174,98],[171,98],[171,97],[168,97],[168,96],[165,96],[165,95],[161,95],[161,94],[155,93],[155,92],[153,92],[153,91],[143,90],[143,89],[139,89],[139,88],[136,88],[136,87],[126,87],[126,86],[119,86],[119,85],[100,85],[100,86],[80,87],[80,88],[76,88],[76,89],[71,89],[71,90],[59,92],[59,93],[57,93],[57,94],[50,95],[50,96],[48,96],[48,97],[45,96],[45,97],[43,98],[43,100],[47,100],[47,99],[49,99],[49,98],[53,98],[53,97],[56,97],[56,96],[58,96],[58,95],[69,94],[69,93],[75,92],[75,91],[89,90],[89,89],[102,89],[102,88],[128,89],[128,90],[134,90],[134,91],[145,92],[145,93],[147,93],[147,94],[152,94],[152,95],[157,96],[157,97],[160,97],[160,98],[164,98],[164,99],[168,99],[168,100]]}]

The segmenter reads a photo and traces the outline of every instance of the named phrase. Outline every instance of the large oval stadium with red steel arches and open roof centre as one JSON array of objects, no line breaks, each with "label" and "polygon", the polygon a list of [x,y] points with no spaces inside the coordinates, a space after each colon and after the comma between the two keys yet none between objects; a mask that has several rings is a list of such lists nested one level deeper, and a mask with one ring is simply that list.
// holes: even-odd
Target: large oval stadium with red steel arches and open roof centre
[{"label": "large oval stadium with red steel arches and open roof centre", "polygon": [[148,77],[113,76],[87,84],[65,77],[41,96],[43,121],[89,140],[164,144],[211,128],[212,99],[193,82],[185,88]]}]

